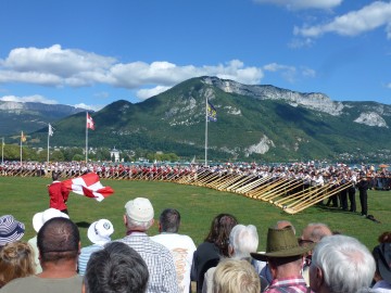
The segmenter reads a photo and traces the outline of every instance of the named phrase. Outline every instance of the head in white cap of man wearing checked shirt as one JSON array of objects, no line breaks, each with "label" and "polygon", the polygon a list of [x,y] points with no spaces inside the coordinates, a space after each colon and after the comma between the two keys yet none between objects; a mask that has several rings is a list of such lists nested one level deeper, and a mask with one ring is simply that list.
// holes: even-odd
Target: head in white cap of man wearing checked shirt
[{"label": "head in white cap of man wearing checked shirt", "polygon": [[136,198],[125,204],[124,221],[128,230],[147,231],[153,225],[154,211],[151,202]]}]

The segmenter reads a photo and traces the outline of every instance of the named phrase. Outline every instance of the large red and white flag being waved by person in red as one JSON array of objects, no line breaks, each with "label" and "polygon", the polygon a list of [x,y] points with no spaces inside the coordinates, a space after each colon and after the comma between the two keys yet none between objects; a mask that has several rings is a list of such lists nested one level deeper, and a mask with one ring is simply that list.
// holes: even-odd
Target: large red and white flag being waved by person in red
[{"label": "large red and white flag being waved by person in red", "polygon": [[80,177],[67,179],[62,182],[70,191],[87,198],[96,199],[98,202],[114,193],[111,187],[103,187],[96,173],[88,173]]}]

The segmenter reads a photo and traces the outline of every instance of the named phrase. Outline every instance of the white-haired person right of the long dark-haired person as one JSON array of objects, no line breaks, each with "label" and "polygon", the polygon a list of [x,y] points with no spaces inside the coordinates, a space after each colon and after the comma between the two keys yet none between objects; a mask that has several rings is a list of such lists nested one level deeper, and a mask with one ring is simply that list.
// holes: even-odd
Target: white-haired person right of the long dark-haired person
[{"label": "white-haired person right of the long dark-haired person", "polygon": [[[249,263],[254,262],[250,253],[256,252],[258,246],[258,234],[256,227],[253,225],[236,225],[229,234],[228,255],[232,259],[242,259]],[[255,269],[255,268],[254,268]],[[213,275],[216,267],[210,268],[205,272],[204,282],[202,285],[203,293],[213,292]],[[256,271],[256,270],[255,270]],[[258,273],[258,271],[256,271]]]}]

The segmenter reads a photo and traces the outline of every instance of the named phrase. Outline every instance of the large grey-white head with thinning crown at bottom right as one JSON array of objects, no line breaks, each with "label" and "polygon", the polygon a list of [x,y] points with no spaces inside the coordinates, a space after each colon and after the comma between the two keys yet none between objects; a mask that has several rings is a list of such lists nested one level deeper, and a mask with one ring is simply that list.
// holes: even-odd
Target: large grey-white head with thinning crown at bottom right
[{"label": "large grey-white head with thinning crown at bottom right", "polygon": [[375,260],[365,245],[346,235],[325,237],[315,246],[310,285],[315,292],[356,293],[367,290]]}]

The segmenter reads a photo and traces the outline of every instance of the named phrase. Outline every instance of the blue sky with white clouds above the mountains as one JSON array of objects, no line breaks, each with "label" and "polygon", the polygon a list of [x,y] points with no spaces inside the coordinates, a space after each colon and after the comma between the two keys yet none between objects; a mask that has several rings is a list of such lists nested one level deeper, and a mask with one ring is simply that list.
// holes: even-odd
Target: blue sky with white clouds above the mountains
[{"label": "blue sky with white clouds above the mountains", "polygon": [[137,103],[211,75],[391,100],[391,1],[3,0],[0,100]]}]

